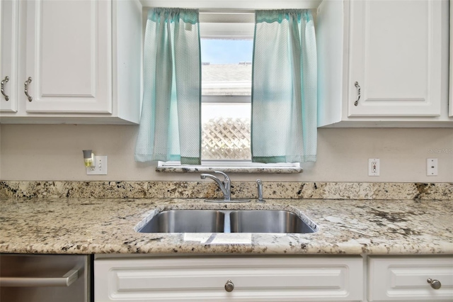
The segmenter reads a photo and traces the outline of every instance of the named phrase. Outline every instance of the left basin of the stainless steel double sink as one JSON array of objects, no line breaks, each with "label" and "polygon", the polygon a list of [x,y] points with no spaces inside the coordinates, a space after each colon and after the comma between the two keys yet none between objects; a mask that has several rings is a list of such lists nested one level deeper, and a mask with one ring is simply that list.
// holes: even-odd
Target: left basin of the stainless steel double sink
[{"label": "left basin of the stainless steel double sink", "polygon": [[171,210],[154,216],[140,233],[223,233],[225,214],[217,210]]}]

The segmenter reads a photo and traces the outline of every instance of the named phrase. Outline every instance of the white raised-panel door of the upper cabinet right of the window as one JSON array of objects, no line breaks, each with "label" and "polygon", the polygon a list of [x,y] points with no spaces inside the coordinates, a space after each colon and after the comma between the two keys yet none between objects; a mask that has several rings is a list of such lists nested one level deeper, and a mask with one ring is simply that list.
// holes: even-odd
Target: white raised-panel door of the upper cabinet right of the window
[{"label": "white raised-panel door of the upper cabinet right of the window", "polygon": [[441,16],[441,1],[350,1],[348,116],[440,116]]}]

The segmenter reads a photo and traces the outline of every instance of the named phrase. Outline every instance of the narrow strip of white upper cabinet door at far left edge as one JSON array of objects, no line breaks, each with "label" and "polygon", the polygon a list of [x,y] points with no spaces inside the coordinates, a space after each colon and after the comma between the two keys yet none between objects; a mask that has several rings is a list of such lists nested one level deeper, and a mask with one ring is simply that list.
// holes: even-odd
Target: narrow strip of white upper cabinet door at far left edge
[{"label": "narrow strip of white upper cabinet door at far left edge", "polygon": [[17,111],[19,1],[0,1],[0,111]]}]

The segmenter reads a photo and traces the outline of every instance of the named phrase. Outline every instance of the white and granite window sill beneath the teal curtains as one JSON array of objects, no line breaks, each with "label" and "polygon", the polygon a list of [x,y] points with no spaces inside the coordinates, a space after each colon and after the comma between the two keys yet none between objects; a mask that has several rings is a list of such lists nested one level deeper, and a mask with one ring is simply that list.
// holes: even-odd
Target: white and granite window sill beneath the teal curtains
[{"label": "white and granite window sill beneath the teal curtains", "polygon": [[156,172],[168,173],[206,173],[222,171],[225,173],[263,173],[293,174],[302,173],[299,163],[294,164],[258,164],[248,161],[203,161],[201,165],[180,164],[179,162],[159,162]]}]

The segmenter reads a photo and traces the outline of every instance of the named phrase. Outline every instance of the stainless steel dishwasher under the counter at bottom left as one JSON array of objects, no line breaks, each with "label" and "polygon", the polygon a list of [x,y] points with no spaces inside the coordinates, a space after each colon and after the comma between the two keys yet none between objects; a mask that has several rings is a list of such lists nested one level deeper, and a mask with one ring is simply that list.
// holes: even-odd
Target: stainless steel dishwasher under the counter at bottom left
[{"label": "stainless steel dishwasher under the counter at bottom left", "polygon": [[91,257],[0,255],[0,301],[90,302]]}]

